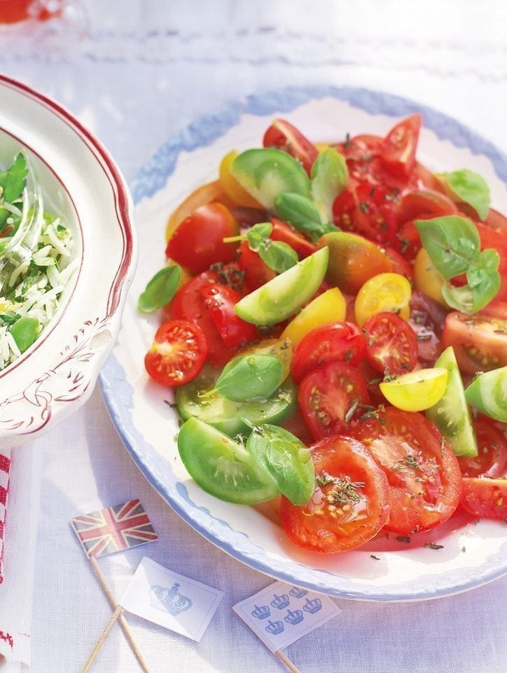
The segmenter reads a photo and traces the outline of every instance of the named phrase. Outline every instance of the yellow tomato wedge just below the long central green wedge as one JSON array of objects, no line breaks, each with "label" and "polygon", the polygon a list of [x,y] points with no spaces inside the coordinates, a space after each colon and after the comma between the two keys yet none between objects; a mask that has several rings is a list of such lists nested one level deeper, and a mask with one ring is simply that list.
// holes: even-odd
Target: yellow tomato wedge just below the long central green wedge
[{"label": "yellow tomato wedge just below the long central green wedge", "polygon": [[293,348],[296,348],[301,339],[312,329],[345,320],[346,311],[345,297],[338,287],[331,287],[331,290],[326,290],[310,301],[310,304],[289,322],[282,332],[282,339],[290,339]]}]

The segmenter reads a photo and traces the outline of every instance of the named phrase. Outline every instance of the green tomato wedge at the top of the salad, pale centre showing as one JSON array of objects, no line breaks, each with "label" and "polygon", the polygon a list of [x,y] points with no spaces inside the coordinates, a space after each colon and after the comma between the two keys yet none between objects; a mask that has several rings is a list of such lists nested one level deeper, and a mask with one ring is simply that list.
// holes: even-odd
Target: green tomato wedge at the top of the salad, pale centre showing
[{"label": "green tomato wedge at the top of the salad, pale centre showing", "polygon": [[247,149],[232,161],[230,172],[268,210],[274,210],[275,197],[286,191],[310,198],[305,169],[280,149]]}]

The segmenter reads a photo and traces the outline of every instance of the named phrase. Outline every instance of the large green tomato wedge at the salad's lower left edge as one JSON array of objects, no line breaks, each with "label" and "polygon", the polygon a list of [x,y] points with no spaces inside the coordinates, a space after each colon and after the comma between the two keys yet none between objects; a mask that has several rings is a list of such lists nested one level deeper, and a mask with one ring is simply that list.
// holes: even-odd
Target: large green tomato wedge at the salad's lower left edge
[{"label": "large green tomato wedge at the salad's lower left edge", "polygon": [[279,494],[275,481],[245,447],[199,419],[183,423],[178,450],[190,477],[216,498],[254,505]]}]

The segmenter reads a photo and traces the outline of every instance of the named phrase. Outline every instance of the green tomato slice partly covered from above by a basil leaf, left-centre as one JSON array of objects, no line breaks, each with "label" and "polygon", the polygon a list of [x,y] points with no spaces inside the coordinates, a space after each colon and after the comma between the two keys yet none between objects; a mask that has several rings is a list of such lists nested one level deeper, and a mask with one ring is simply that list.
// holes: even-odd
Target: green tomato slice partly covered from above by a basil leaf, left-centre
[{"label": "green tomato slice partly covered from above by a basil leaf, left-centre", "polygon": [[209,423],[217,430],[234,437],[239,434],[248,435],[250,432],[248,423],[254,426],[263,423],[279,425],[296,411],[296,386],[290,378],[266,400],[233,402],[217,391],[207,395],[213,390],[218,374],[220,374],[218,369],[204,367],[197,379],[186,386],[176,388],[176,408],[183,421],[195,416],[200,421]]}]

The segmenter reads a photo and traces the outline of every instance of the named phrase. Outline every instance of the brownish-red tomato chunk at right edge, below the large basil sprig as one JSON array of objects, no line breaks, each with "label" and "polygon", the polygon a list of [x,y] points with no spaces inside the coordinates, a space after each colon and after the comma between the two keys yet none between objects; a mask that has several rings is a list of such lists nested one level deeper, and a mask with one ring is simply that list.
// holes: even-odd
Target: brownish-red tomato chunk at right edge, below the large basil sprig
[{"label": "brownish-red tomato chunk at right edge, below the large basil sprig", "polygon": [[507,365],[507,320],[452,311],[445,319],[444,348],[452,346],[466,374],[489,372]]}]

